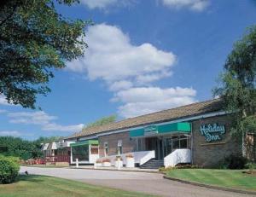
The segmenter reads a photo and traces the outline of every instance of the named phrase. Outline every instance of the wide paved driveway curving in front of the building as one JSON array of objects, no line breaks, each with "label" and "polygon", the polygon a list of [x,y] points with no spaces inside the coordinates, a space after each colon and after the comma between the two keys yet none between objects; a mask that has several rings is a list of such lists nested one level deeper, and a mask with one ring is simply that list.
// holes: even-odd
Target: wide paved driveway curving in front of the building
[{"label": "wide paved driveway curving in front of the building", "polygon": [[148,194],[171,197],[252,197],[212,188],[202,188],[163,179],[161,174],[132,171],[96,171],[68,168],[21,167],[20,172],[62,177],[111,188],[121,188]]}]

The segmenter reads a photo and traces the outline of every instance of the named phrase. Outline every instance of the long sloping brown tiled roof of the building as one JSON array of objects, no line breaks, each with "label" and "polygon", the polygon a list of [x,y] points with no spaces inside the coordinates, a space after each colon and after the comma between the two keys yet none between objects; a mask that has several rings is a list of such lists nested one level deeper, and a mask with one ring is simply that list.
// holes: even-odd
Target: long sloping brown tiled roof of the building
[{"label": "long sloping brown tiled roof of the building", "polygon": [[85,128],[80,132],[74,133],[65,139],[72,139],[81,136],[94,136],[98,133],[103,133],[113,130],[124,130],[127,128],[155,124],[160,122],[171,121],[175,119],[183,119],[200,115],[203,113],[214,113],[223,110],[223,101],[213,99],[210,101],[195,102],[186,106],[166,109],[156,113],[134,117],[131,119],[123,119],[108,125],[93,126]]}]

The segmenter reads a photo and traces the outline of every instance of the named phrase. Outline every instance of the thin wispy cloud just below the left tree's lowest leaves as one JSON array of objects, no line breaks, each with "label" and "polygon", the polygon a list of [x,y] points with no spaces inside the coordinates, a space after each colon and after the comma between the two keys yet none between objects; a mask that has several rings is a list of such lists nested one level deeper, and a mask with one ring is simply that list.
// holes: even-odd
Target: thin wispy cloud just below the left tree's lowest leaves
[{"label": "thin wispy cloud just below the left tree's lowest leaves", "polygon": [[32,125],[44,125],[49,121],[57,119],[55,116],[50,116],[43,111],[40,112],[24,112],[24,113],[9,113],[10,123],[32,124]]}]

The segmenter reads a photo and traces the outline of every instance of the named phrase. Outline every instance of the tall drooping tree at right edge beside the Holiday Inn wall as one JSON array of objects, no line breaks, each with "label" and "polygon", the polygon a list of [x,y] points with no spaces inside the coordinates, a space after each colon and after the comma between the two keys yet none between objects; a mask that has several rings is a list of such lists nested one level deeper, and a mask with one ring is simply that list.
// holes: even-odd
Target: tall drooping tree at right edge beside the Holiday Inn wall
[{"label": "tall drooping tree at right edge beside the Holiday Inn wall", "polygon": [[220,82],[213,93],[224,100],[226,111],[232,114],[232,134],[244,139],[247,133],[255,133],[256,26],[248,28],[244,37],[235,43]]}]

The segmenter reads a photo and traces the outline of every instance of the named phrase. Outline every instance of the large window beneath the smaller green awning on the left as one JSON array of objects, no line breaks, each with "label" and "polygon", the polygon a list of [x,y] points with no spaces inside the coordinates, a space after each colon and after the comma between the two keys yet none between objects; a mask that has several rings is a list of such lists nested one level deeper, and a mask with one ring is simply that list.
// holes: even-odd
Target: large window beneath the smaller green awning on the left
[{"label": "large window beneath the smaller green awning on the left", "polygon": [[72,147],[73,161],[79,159],[79,161],[89,161],[89,146],[88,144]]}]

